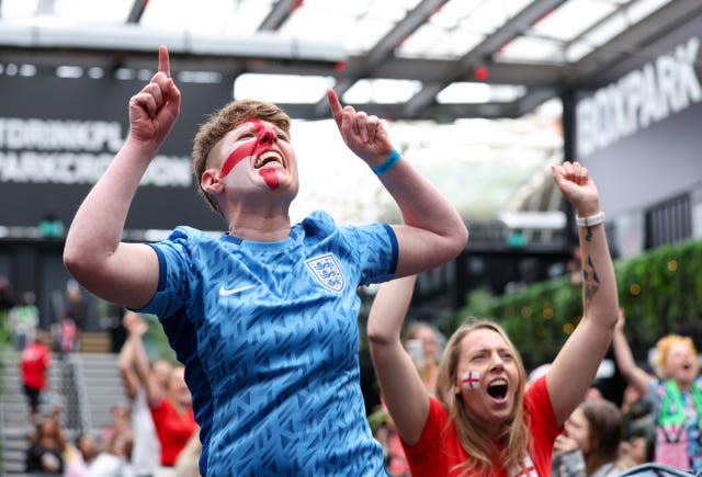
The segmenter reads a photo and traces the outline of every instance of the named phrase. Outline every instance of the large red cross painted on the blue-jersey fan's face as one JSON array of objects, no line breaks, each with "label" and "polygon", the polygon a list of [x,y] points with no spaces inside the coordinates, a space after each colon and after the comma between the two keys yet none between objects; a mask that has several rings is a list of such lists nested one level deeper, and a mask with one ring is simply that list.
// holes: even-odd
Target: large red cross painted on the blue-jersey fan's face
[{"label": "large red cross painted on the blue-jersey fan's face", "polygon": [[273,167],[265,166],[271,162],[283,164],[283,158],[273,148],[273,145],[278,140],[278,135],[273,128],[264,125],[257,118],[249,121],[249,123],[254,127],[254,136],[245,139],[239,147],[229,154],[222,164],[219,177],[222,179],[226,178],[244,159],[253,158],[253,164],[265,185],[268,185],[269,189],[275,190],[280,185],[278,172]]}]

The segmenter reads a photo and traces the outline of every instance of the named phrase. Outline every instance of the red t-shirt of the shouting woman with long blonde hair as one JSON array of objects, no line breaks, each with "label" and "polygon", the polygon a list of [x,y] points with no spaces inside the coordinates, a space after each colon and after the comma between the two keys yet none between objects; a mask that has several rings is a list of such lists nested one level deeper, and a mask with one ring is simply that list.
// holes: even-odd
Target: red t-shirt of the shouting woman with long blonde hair
[{"label": "red t-shirt of the shouting woman with long blonde hair", "polygon": [[[524,419],[532,436],[532,448],[529,453],[531,462],[526,463],[526,472],[518,475],[550,476],[553,443],[561,430],[556,427],[545,376],[532,384],[524,395]],[[411,447],[404,445],[412,477],[461,475],[460,469],[453,468],[468,461],[469,456],[461,446],[453,422],[449,421],[446,410],[432,397],[419,442]],[[444,434],[448,422],[448,434]],[[530,469],[532,465],[537,474],[534,474],[533,468]],[[495,470],[496,477],[513,475],[503,468]]]}]

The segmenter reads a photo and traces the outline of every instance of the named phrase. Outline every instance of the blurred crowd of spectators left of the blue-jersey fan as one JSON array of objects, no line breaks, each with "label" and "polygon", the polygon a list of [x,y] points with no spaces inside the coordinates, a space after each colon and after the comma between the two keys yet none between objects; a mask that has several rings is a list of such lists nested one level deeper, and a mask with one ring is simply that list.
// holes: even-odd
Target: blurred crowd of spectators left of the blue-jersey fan
[{"label": "blurred crowd of spectators left of the blue-jersey fan", "polygon": [[143,343],[147,326],[135,313],[125,311],[122,319],[126,339],[115,371],[124,394],[115,396],[109,423],[86,432],[64,428],[65,409],[48,391],[50,370],[57,357],[80,350],[79,323],[86,322],[87,304],[69,281],[65,296],[54,300],[61,304],[55,322],[43,328],[35,298],[25,292],[14,300],[9,281],[0,277],[0,325],[16,352],[31,429],[25,472],[66,477],[200,475],[201,446],[183,367],[162,359],[148,362]]}]

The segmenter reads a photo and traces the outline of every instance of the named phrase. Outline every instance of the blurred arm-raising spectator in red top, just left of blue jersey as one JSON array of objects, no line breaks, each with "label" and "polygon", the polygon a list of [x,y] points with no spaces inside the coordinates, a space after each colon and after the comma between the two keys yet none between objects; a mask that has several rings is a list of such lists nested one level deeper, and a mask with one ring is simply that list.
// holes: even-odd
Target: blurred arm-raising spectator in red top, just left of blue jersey
[{"label": "blurred arm-raising spectator in red top, just left of blue jersey", "polygon": [[[129,333],[143,336],[146,332],[144,320],[134,320],[129,326],[133,327]],[[174,366],[161,385],[159,377],[149,368],[141,340],[134,340],[133,347],[136,374],[146,389],[156,435],[161,444],[161,465],[172,467],[197,430],[192,395],[185,384],[185,368]]]}]

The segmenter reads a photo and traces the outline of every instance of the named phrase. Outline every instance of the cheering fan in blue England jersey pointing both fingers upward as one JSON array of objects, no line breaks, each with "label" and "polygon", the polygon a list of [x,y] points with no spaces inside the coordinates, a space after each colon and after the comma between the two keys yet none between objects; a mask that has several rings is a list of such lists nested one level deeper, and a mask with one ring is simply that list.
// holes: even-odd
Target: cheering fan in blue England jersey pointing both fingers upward
[{"label": "cheering fan in blue England jersey pointing both fingers upward", "polygon": [[[129,134],[79,207],[64,261],[89,291],[156,314],[186,367],[203,475],[384,475],[359,383],[360,284],[454,259],[467,230],[393,149],[375,116],[329,105],[348,147],[376,173],[405,224],[337,226],[324,212],[291,225],[297,162],[278,106],[233,102],[202,126],[194,170],[228,230],[178,227],[125,243],[139,180],[179,114],[168,52],[129,101]],[[331,159],[330,159],[331,163]]]}]

